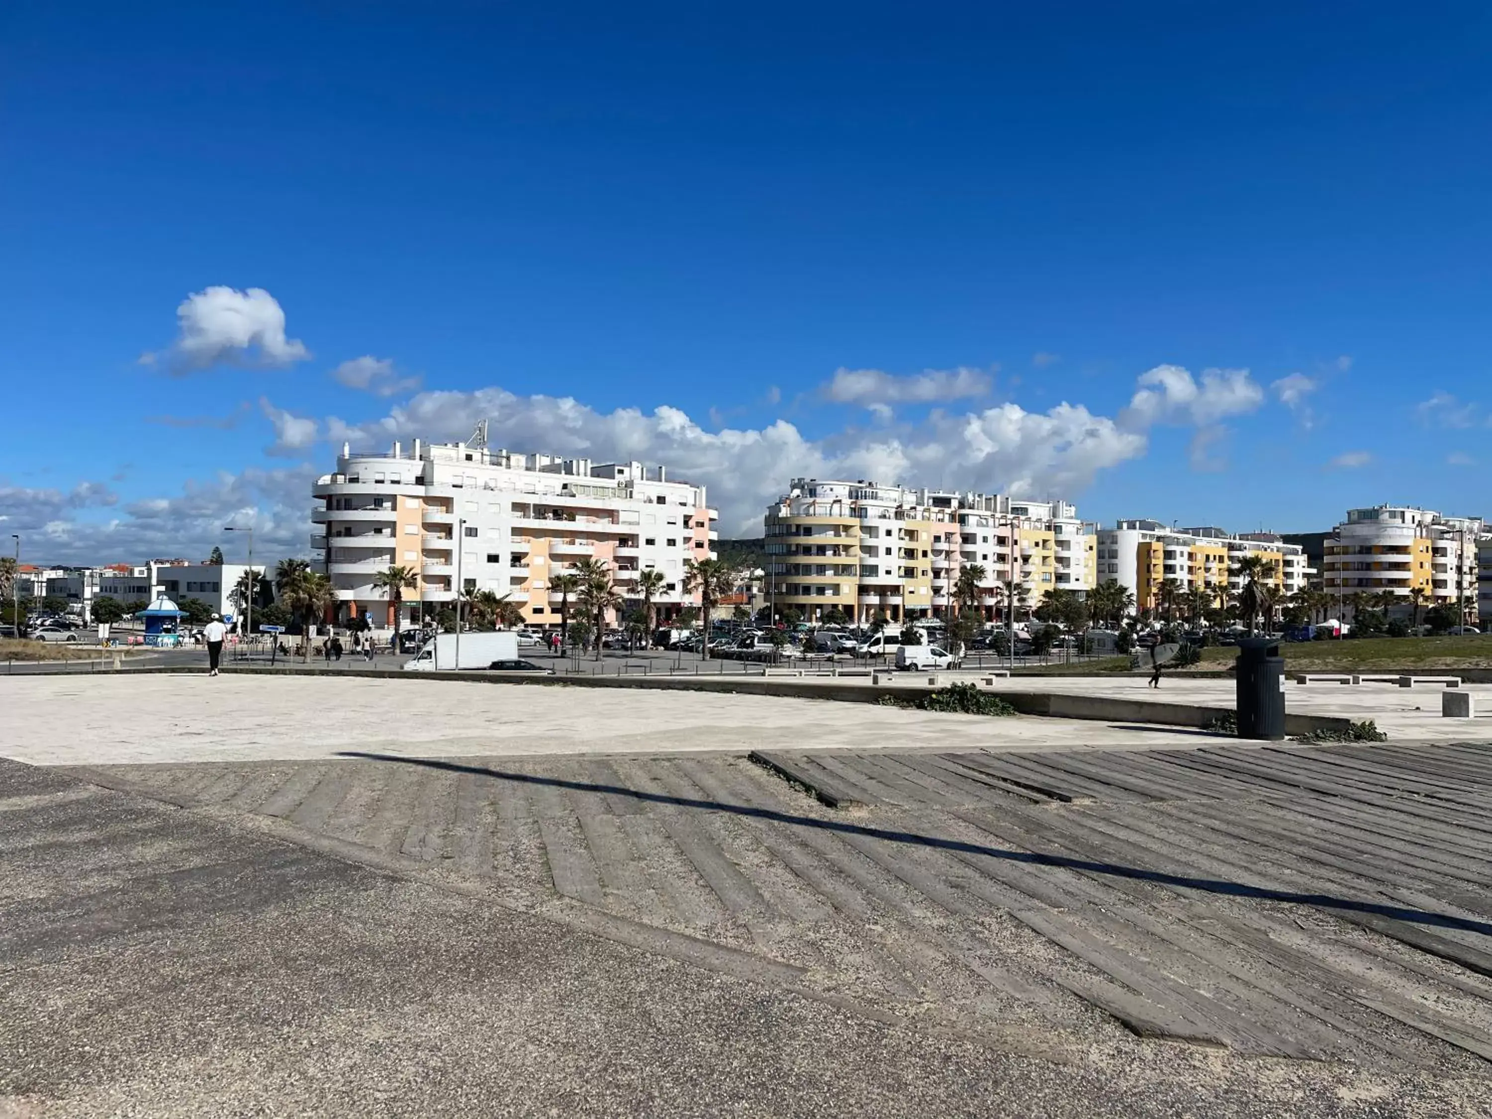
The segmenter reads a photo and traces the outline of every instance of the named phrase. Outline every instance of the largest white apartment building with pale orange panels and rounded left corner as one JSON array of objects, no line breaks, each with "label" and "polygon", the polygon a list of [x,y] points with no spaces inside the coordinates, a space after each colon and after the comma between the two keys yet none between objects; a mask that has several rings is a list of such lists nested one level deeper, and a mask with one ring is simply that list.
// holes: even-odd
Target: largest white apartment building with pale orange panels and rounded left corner
[{"label": "largest white apartment building with pale orange panels and rounded left corner", "polygon": [[670,480],[665,467],[595,464],[588,458],[494,451],[485,439],[422,443],[386,454],[346,445],[336,473],[312,486],[316,565],[331,577],[339,621],[392,624],[373,577],[389,567],[418,573],[403,592],[406,621],[451,604],[460,591],[507,595],[533,625],[558,625],[551,580],[580,558],[604,561],[628,597],[639,571],[665,576],[659,619],[698,603],[683,589],[689,560],[716,558],[704,486]]}]

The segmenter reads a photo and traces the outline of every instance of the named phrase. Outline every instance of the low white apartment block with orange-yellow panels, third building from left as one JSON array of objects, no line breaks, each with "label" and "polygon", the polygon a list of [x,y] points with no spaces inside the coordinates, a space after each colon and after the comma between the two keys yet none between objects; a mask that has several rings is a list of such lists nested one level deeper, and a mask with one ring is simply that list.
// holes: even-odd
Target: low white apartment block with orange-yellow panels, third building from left
[{"label": "low white apartment block with orange-yellow panels, third building from left", "polygon": [[1222,528],[1173,528],[1161,521],[1119,521],[1098,533],[1097,580],[1116,579],[1135,598],[1137,610],[1155,610],[1161,586],[1176,580],[1180,592],[1200,589],[1216,603],[1243,589],[1237,561],[1258,555],[1274,564],[1274,586],[1283,595],[1307,585],[1304,549],[1273,533],[1229,534]]}]

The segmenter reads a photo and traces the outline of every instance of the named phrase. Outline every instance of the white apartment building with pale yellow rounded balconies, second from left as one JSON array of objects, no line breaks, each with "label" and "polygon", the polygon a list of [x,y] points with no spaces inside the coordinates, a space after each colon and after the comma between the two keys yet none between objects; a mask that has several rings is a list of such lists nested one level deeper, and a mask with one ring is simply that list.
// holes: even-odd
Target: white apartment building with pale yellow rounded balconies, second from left
[{"label": "white apartment building with pale yellow rounded balconies, second from left", "polygon": [[765,516],[767,589],[809,621],[941,616],[959,574],[983,568],[979,606],[1029,610],[1052,589],[1092,586],[1094,528],[1065,501],[797,477]]}]

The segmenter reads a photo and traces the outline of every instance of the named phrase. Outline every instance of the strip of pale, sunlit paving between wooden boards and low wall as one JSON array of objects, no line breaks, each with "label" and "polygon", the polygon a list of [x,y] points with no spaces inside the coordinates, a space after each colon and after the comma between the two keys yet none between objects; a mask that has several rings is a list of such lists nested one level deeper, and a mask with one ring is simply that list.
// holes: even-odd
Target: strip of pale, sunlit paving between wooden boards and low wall
[{"label": "strip of pale, sunlit paving between wooden boards and low wall", "polygon": [[1177,746],[1192,731],[930,715],[856,703],[327,676],[0,677],[0,756],[37,765],[676,753],[795,746]]}]

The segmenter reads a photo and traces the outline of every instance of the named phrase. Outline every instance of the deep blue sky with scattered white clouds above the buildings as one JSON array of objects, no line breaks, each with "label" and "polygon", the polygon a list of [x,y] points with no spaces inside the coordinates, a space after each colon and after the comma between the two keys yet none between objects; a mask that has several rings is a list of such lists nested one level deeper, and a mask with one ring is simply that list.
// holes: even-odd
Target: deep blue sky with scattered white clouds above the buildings
[{"label": "deep blue sky with scattered white clouds above the buildings", "polygon": [[530,7],[9,6],[0,530],[304,551],[342,439],[482,416],[727,534],[1492,512],[1483,4]]}]

